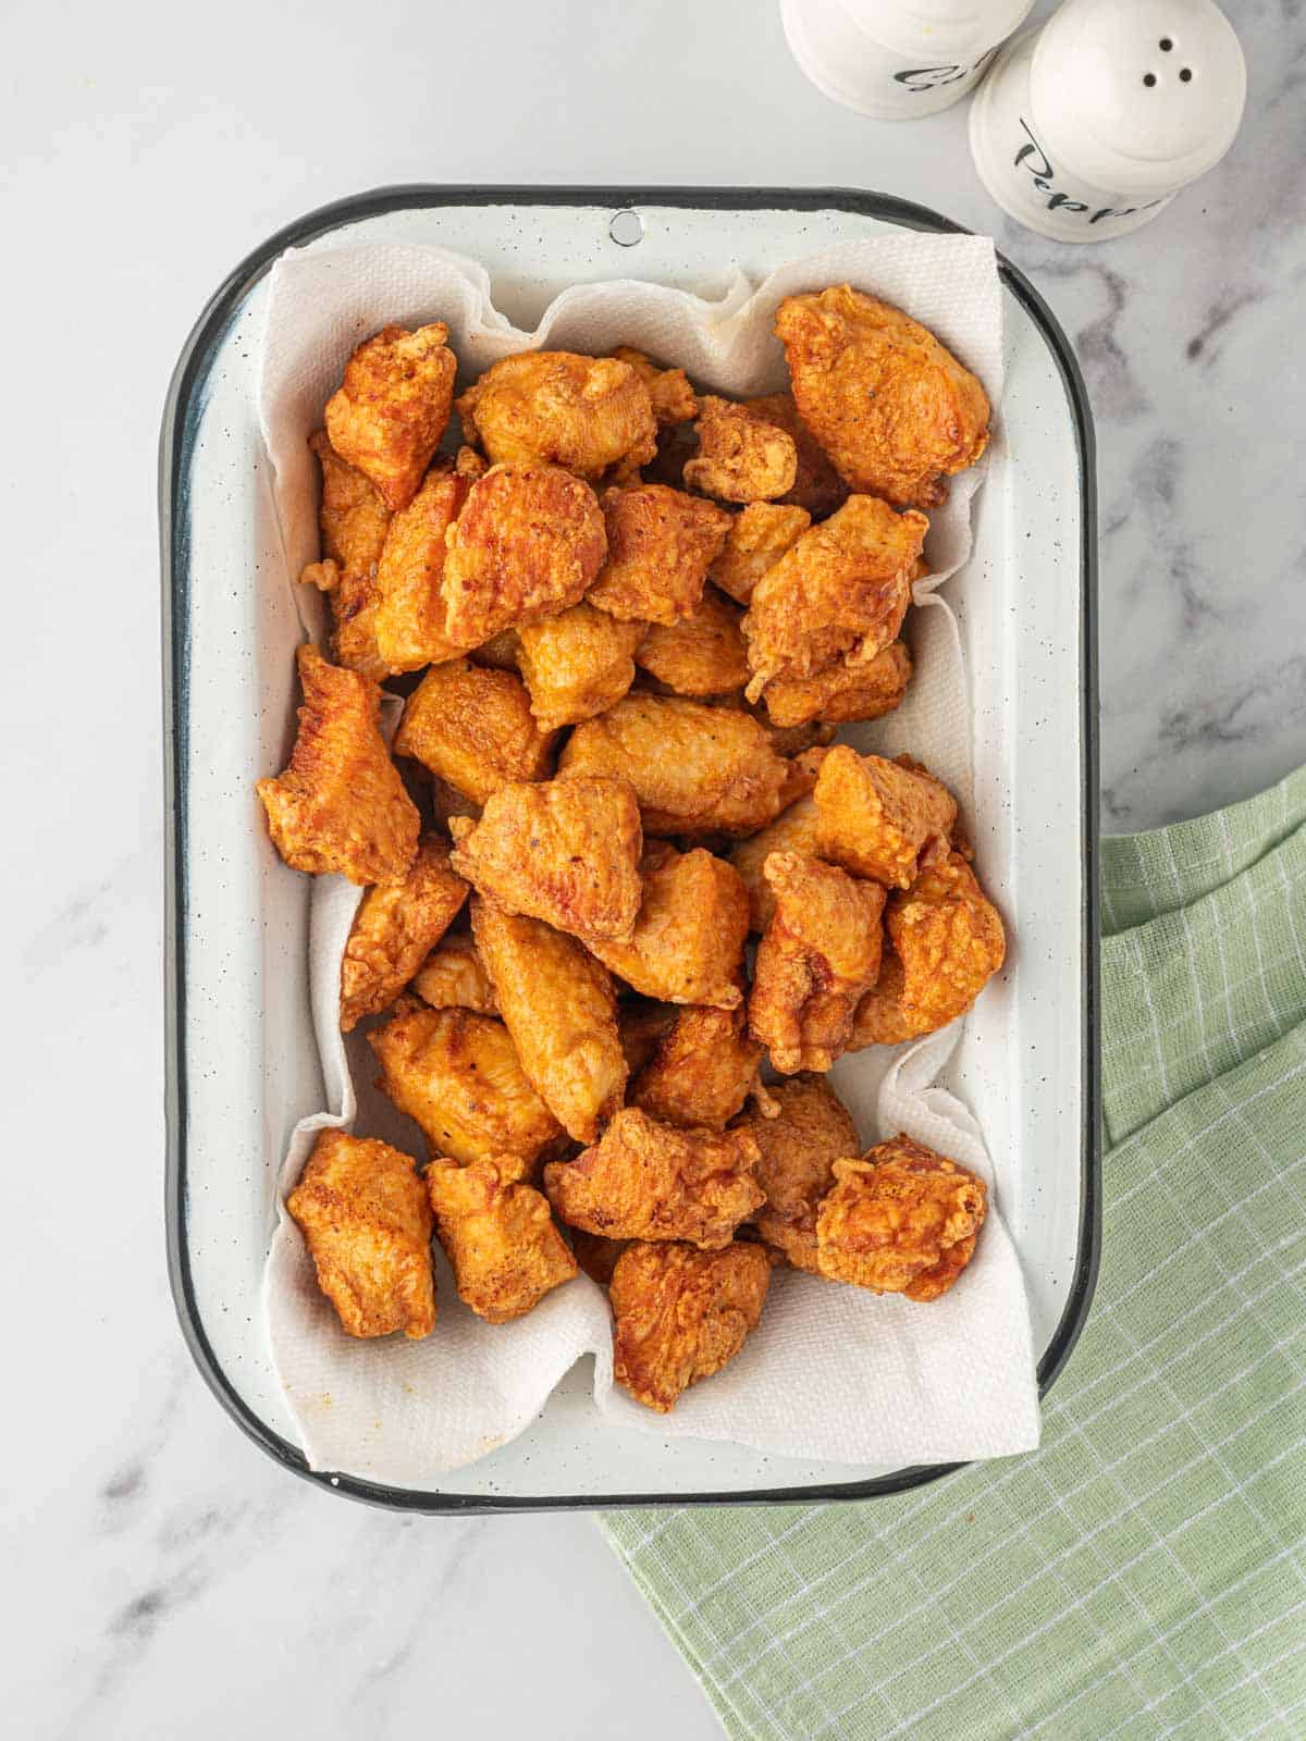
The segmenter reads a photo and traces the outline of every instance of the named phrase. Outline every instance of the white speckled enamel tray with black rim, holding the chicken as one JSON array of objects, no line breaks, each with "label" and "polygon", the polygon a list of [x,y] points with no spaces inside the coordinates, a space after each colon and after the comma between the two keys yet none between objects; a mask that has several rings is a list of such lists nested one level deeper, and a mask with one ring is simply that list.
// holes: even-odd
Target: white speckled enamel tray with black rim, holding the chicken
[{"label": "white speckled enamel tray with black rim, holding the chicken", "polygon": [[[865,1499],[946,1468],[853,1468],[601,1422],[576,1367],[512,1445],[418,1492],[310,1473],[263,1342],[273,1168],[324,1104],[303,904],[261,911],[254,780],[280,766],[259,646],[286,609],[256,427],[266,272],[286,247],[437,242],[479,259],[495,303],[533,327],[568,284],[643,277],[721,294],[798,254],[885,228],[956,230],[853,192],[392,188],[272,237],[218,291],[172,380],[162,432],[169,792],[172,1290],[190,1349],[233,1419],[289,1469],[411,1511]],[[1097,1267],[1097,682],[1092,421],[1066,336],[1001,265],[1006,388],[977,494],[975,550],[949,581],[975,689],[986,883],[1015,947],[966,1024],[947,1085],[972,1104],[1029,1287],[1047,1389],[1083,1327]],[[986,1013],[982,1013],[986,1012]]]}]

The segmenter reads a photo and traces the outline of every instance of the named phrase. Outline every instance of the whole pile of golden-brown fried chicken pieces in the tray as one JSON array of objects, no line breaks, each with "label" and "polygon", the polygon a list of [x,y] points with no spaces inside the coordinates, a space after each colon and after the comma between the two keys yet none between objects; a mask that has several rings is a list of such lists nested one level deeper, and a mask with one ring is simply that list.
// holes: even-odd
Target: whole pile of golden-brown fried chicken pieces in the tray
[{"label": "whole pile of golden-brown fried chicken pieces in the tray", "polygon": [[848,286],[775,331],[791,390],[742,404],[636,350],[505,357],[454,402],[448,327],[388,326],[312,437],[333,656],[300,648],[258,792],[287,865],[366,886],[340,1024],[428,1146],[324,1132],[289,1194],[350,1335],[432,1330],[432,1233],[491,1323],[580,1266],[667,1410],[775,1266],[933,1301],[975,1248],[982,1180],[860,1154],[825,1072],[1003,963],[953,794],[832,742],[902,700],[923,510],[989,404]]}]

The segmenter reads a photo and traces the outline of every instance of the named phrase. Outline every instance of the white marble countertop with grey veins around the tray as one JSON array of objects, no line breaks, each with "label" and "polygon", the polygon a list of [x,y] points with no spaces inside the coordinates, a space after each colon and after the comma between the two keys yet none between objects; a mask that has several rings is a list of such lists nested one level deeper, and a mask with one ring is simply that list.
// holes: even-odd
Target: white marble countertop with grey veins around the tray
[{"label": "white marble countertop with grey veins around the tray", "polygon": [[240,1438],[176,1334],[153,449],[209,291],[298,212],[409,179],[860,185],[994,230],[1097,411],[1104,822],[1191,815],[1306,756],[1306,19],[1236,16],[1231,158],[1071,252],[1000,218],[963,111],[825,103],[768,0],[24,14],[0,110],[16,1736],[719,1734],[589,1518],[333,1502]]}]

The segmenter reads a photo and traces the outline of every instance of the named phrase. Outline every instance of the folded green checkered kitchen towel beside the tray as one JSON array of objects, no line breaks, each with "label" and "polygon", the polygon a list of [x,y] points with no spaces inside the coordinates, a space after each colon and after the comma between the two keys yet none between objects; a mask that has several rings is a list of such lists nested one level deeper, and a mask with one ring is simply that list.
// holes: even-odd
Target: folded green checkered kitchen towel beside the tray
[{"label": "folded green checkered kitchen towel beside the tray", "polygon": [[730,1736],[1306,1736],[1306,770],[1102,864],[1102,1267],[1041,1450],[604,1520]]}]

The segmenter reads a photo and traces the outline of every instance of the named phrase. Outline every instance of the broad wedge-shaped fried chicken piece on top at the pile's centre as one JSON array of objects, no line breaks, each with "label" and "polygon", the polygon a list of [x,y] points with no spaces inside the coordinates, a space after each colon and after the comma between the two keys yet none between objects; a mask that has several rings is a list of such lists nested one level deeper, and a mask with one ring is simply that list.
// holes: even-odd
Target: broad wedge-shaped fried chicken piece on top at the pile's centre
[{"label": "broad wedge-shaped fried chicken piece on top at the pile's centre", "polygon": [[644,837],[629,780],[505,785],[479,823],[453,817],[449,832],[454,870],[508,912],[585,942],[634,935]]}]

